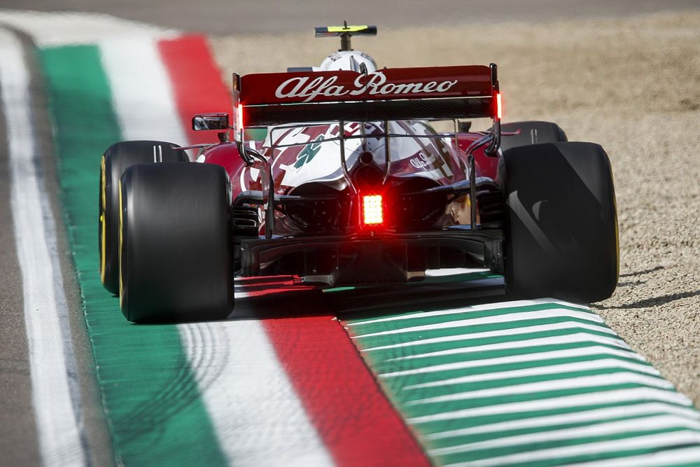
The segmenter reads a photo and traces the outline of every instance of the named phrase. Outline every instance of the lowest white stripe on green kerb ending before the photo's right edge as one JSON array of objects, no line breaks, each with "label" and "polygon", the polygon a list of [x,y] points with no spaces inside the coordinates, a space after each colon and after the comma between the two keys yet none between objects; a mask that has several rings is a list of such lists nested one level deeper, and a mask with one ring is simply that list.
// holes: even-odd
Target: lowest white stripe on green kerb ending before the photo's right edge
[{"label": "lowest white stripe on green kerb ending before the photo's right edge", "polygon": [[485,417],[497,414],[521,414],[538,410],[558,410],[573,407],[585,407],[587,405],[603,405],[615,403],[630,403],[636,400],[644,402],[666,402],[678,405],[692,406],[692,402],[686,396],[666,389],[632,388],[615,389],[613,391],[595,391],[576,396],[563,396],[539,400],[526,400],[525,402],[505,403],[500,405],[487,405],[463,410],[451,410],[421,417],[408,419],[409,424],[423,424],[430,421],[443,421],[465,419],[470,417]]}]

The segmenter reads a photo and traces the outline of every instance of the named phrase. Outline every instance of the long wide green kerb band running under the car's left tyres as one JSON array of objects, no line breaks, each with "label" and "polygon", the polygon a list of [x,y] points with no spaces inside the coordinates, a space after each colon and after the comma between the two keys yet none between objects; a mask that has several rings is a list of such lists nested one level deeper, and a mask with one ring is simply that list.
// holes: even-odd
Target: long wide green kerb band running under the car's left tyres
[{"label": "long wide green kerb band running under the car's left tyres", "polygon": [[175,326],[132,326],[99,281],[99,158],[122,139],[97,46],[41,50],[97,379],[118,462],[225,465]]}]

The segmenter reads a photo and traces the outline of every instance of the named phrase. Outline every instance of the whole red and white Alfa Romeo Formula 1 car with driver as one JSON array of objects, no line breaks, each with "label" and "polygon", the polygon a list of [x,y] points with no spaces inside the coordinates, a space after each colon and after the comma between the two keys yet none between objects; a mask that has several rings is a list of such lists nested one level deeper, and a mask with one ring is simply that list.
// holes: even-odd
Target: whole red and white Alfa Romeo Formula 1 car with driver
[{"label": "whole red and white Alfa Romeo Formula 1 car with driver", "polygon": [[[378,69],[350,44],[376,30],[316,28],[342,39],[321,67],[234,74],[232,118],[193,118],[216,144],[107,149],[100,272],[129,321],[224,319],[237,276],[397,284],[481,267],[511,298],[612,294],[603,148],[554,123],[502,124],[496,64]],[[475,118],[490,129],[469,132]]]}]

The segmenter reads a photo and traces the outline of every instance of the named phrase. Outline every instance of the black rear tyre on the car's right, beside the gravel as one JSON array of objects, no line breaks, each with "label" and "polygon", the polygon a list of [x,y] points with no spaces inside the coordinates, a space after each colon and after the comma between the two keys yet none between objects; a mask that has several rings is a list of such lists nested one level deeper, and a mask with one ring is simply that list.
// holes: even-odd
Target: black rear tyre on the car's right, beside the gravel
[{"label": "black rear tyre on the car's right, beside the gravel", "polygon": [[596,302],[617,285],[619,252],[610,160],[591,143],[503,153],[505,284],[512,298]]}]

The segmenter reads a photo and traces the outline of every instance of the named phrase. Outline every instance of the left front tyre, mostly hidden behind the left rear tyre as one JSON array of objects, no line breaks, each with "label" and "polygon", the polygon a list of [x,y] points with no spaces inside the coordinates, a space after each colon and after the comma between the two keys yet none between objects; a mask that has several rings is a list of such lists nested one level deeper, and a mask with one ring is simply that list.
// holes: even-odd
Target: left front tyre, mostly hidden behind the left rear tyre
[{"label": "left front tyre, mostly hidden behind the left rear tyre", "polygon": [[127,167],[146,162],[187,162],[185,151],[165,141],[122,141],[109,146],[102,156],[99,176],[99,274],[102,285],[119,293],[119,179]]}]

